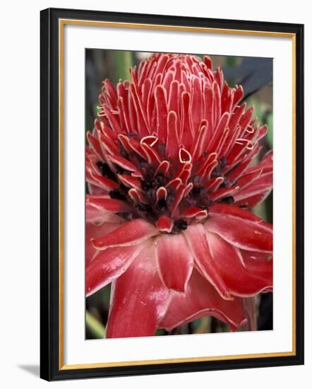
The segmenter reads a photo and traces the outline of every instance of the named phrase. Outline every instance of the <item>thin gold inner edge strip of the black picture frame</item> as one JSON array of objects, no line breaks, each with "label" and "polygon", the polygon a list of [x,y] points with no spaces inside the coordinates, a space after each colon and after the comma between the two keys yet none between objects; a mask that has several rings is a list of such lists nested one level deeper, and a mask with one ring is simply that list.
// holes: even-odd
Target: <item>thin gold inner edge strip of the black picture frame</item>
[{"label": "thin gold inner edge strip of the black picture frame", "polygon": [[[120,361],[95,364],[64,364],[64,25],[92,25],[112,28],[139,28],[150,30],[176,30],[194,33],[220,33],[266,37],[292,38],[292,351],[261,354],[237,354],[202,356],[177,359],[152,359],[143,361]],[[144,23],[119,23],[104,21],[81,21],[59,19],[59,370],[83,368],[106,368],[120,366],[146,366],[154,364],[177,364],[201,361],[228,361],[248,358],[268,358],[296,355],[296,35],[257,30],[234,30],[226,28],[198,28]]]}]

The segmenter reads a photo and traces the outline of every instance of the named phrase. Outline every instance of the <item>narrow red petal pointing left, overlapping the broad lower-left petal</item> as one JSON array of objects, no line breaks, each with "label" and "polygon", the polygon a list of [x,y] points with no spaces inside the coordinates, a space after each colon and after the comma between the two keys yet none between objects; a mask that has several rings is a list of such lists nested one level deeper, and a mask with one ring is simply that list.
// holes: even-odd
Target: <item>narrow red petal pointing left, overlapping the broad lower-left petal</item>
[{"label": "narrow red petal pointing left, overlapping the broad lower-left petal", "polygon": [[131,246],[157,235],[157,229],[144,219],[134,219],[116,228],[112,233],[93,239],[92,244],[99,250],[115,246]]}]

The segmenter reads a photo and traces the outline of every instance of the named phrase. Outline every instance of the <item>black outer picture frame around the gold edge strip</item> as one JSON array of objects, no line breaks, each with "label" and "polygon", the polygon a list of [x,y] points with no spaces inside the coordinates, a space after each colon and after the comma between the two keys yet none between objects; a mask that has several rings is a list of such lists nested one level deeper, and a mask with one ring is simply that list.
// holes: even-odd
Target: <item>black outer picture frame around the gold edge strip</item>
[{"label": "black outer picture frame around the gold edge strip", "polygon": [[[40,28],[40,377],[47,381],[304,364],[304,25],[49,8]],[[59,348],[59,20],[290,33],[296,42],[296,344],[290,356],[142,366],[62,368]]]}]

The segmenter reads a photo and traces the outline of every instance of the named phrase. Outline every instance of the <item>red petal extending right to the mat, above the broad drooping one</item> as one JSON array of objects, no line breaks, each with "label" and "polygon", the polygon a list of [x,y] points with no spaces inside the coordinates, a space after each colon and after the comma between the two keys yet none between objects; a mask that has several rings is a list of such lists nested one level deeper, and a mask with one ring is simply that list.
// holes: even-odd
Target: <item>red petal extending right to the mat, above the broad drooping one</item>
[{"label": "red petal extending right to the mat, above the broad drooping one", "polygon": [[[245,211],[248,212],[248,211]],[[224,240],[244,250],[272,252],[273,237],[269,224],[229,215],[211,216],[205,222],[208,231],[217,233]]]}]

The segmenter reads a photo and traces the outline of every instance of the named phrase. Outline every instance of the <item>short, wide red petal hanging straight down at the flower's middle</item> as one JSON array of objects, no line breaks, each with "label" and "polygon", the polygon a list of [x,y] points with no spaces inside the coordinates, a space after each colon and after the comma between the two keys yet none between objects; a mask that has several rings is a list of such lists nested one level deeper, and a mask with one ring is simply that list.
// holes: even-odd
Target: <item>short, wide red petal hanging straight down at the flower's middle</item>
[{"label": "short, wide red petal hanging straight down at the flower's middle", "polygon": [[168,289],[185,291],[193,269],[193,256],[183,235],[157,238],[157,262],[160,275]]}]

